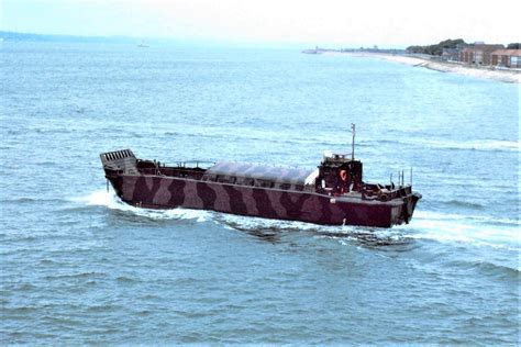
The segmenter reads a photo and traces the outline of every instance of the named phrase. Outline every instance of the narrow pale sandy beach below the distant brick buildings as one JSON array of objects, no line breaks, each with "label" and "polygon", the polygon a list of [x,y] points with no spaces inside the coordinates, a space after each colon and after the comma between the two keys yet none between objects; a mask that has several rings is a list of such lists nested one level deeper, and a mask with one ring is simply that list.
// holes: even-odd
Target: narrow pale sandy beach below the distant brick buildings
[{"label": "narrow pale sandy beach below the distant brick buildings", "polygon": [[510,83],[521,83],[521,71],[516,70],[500,70],[492,68],[476,68],[469,67],[467,65],[462,65],[458,63],[445,63],[445,61],[434,61],[430,59],[423,59],[420,57],[407,56],[407,55],[392,55],[384,53],[366,53],[366,52],[356,52],[356,53],[325,53],[334,55],[350,55],[356,57],[367,57],[367,58],[377,58],[395,63],[400,63],[410,66],[419,66],[428,69],[441,71],[441,72],[453,72],[466,76],[473,76],[478,78],[492,79],[502,82]]}]

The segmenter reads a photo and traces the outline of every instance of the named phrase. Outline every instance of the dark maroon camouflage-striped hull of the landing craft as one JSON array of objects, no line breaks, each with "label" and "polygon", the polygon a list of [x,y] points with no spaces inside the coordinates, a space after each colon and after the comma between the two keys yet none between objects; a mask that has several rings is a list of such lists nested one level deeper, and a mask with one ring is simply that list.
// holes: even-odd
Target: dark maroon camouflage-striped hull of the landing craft
[{"label": "dark maroon camouflage-striped hull of the landing craft", "polygon": [[421,198],[412,191],[389,201],[363,199],[359,193],[334,197],[168,177],[157,171],[125,170],[122,165],[113,168],[104,166],[106,177],[121,200],[147,209],[185,208],[325,225],[390,227],[408,223]]}]

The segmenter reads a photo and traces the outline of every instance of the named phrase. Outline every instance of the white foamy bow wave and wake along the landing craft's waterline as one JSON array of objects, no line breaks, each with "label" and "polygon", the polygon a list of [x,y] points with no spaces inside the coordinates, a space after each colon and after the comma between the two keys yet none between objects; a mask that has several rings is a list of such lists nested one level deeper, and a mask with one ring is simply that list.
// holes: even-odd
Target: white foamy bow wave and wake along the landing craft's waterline
[{"label": "white foamy bow wave and wake along the landing craft's waterline", "polygon": [[409,225],[393,228],[369,228],[356,226],[324,226],[298,221],[267,220],[212,211],[171,209],[138,209],[121,202],[112,192],[96,191],[74,199],[90,206],[106,206],[152,220],[192,220],[214,222],[225,228],[236,230],[265,238],[278,240],[287,232],[307,232],[314,236],[337,239],[354,239],[366,245],[407,244],[411,239],[432,239],[442,243],[463,243],[520,250],[519,220],[498,219],[486,215],[464,215],[417,211]]}]

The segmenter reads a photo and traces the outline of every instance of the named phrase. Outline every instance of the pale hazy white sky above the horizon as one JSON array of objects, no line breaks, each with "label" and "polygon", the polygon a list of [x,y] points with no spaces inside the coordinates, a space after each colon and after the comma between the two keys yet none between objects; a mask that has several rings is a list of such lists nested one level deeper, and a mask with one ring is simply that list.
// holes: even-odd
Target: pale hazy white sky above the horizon
[{"label": "pale hazy white sky above the horizon", "polygon": [[0,0],[0,30],[224,42],[407,46],[520,42],[519,1]]}]

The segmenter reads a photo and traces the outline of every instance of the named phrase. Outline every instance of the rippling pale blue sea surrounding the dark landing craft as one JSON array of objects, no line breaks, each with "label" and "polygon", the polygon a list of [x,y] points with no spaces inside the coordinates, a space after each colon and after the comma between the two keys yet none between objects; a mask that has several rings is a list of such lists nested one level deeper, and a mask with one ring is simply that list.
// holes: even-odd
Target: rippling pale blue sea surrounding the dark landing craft
[{"label": "rippling pale blue sea surrounding the dark landing craft", "polygon": [[[298,51],[2,43],[4,344],[517,344],[519,85]],[[409,225],[331,227],[106,191],[101,152],[404,170]]]}]

